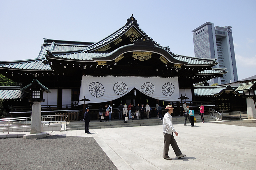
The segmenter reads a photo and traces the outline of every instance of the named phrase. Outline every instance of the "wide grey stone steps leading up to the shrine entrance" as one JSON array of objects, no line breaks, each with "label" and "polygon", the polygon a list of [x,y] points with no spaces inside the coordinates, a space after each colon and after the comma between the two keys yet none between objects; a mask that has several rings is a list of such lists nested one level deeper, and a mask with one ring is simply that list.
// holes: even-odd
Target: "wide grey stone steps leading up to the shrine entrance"
[{"label": "wide grey stone steps leading up to the shrine entrance", "polygon": [[[202,122],[200,115],[196,115],[196,122]],[[182,116],[174,116],[172,117],[173,124],[183,124],[185,121],[185,117]],[[209,115],[204,115],[204,122],[215,121]],[[187,124],[189,125],[189,121],[187,120]],[[131,127],[131,126],[150,126],[150,125],[162,125],[162,121],[157,119],[156,117],[151,117],[150,119],[143,119],[143,120],[128,120],[127,123],[124,123],[124,120],[111,120],[109,122],[100,122],[97,120],[92,120],[89,122],[89,129],[100,129],[100,128],[119,128],[119,127]],[[67,122],[66,130],[82,130],[84,129],[84,122],[77,121],[77,122]]]}]

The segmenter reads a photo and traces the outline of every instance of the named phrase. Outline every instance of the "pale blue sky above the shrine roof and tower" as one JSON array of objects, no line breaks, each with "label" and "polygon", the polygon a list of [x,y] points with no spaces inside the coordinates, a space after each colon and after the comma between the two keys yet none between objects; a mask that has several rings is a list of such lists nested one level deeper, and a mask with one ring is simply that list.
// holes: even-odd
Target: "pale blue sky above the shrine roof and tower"
[{"label": "pale blue sky above the shrine roof and tower", "polygon": [[0,0],[0,61],[36,58],[43,38],[97,42],[132,14],[140,28],[175,54],[195,56],[192,30],[232,26],[238,79],[256,75],[256,1]]}]

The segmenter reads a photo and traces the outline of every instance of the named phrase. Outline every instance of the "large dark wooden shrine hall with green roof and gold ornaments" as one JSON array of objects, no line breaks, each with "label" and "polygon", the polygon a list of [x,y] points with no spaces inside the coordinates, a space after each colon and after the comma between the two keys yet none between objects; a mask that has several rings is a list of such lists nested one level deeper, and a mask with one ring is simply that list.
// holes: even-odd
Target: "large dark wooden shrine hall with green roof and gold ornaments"
[{"label": "large dark wooden shrine hall with green roof and gold ornaments", "polygon": [[98,42],[44,39],[35,59],[1,61],[0,73],[19,86],[1,87],[0,97],[4,106],[28,106],[29,96],[21,89],[36,79],[51,91],[44,93],[42,108],[81,110],[84,97],[91,109],[117,108],[120,102],[180,107],[181,96],[195,100],[193,84],[226,73],[213,68],[217,64],[172,53],[140,29],[132,15]]}]

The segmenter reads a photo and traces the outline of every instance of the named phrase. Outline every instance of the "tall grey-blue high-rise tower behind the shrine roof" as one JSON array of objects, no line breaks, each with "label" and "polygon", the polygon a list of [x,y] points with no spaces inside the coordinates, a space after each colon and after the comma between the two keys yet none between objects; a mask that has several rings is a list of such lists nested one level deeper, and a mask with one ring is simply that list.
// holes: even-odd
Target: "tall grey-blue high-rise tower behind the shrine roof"
[{"label": "tall grey-blue high-rise tower behind the shrine roof", "polygon": [[238,80],[236,70],[235,50],[232,36],[232,26],[215,26],[211,22],[194,29],[193,41],[195,57],[198,58],[216,58],[217,68],[226,68],[228,73],[222,78],[210,80],[213,83],[225,84]]}]

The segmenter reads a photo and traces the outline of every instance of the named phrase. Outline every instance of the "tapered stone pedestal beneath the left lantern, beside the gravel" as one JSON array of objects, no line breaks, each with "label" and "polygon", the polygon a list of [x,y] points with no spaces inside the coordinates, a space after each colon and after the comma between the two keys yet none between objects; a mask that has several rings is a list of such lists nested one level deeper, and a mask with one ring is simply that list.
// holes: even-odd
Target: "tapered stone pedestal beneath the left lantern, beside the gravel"
[{"label": "tapered stone pedestal beneath the left lantern, beside the gravel", "polygon": [[30,134],[41,133],[41,105],[40,102],[33,102],[31,114],[31,129]]}]

